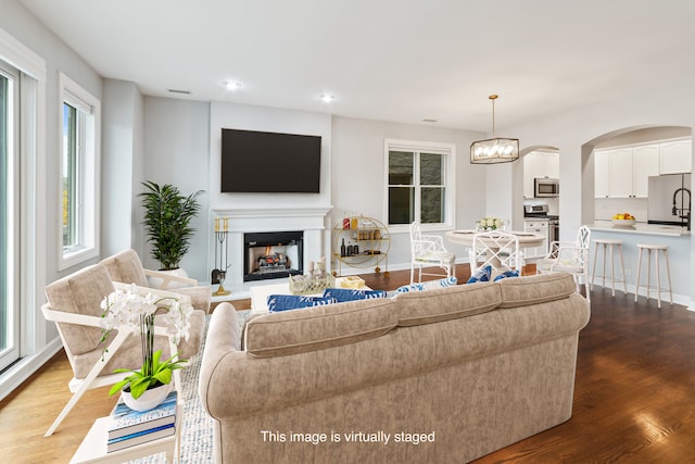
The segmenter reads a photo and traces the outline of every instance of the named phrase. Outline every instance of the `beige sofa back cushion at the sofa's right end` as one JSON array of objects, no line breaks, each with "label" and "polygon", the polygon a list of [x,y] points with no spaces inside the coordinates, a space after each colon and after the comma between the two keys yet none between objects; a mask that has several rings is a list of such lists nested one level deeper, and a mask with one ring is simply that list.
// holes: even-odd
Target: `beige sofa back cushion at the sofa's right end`
[{"label": "beige sofa back cushion at the sofa's right end", "polygon": [[577,291],[574,278],[568,273],[539,274],[501,280],[500,308],[527,306],[559,300]]}]

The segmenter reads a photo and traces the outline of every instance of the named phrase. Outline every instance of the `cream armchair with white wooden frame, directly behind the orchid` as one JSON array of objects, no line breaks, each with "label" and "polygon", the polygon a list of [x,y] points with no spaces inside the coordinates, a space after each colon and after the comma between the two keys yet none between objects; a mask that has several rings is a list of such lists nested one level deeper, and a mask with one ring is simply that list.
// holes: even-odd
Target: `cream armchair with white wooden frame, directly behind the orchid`
[{"label": "cream armchair with white wooden frame, directly behind the orchid", "polygon": [[[100,304],[115,288],[109,272],[101,264],[86,267],[46,287],[48,302],[41,306],[41,312],[47,321],[56,324],[74,374],[68,383],[73,397],[46,432],[47,437],[55,431],[88,389],[115,384],[127,375],[112,374],[115,368],[138,369],[142,364],[140,335],[130,337],[134,331],[129,327],[115,329],[104,342],[100,341],[103,312]],[[172,292],[140,290],[180,298]],[[162,350],[165,358],[178,353],[182,360],[198,353],[205,328],[205,313],[193,311],[189,318],[190,337],[188,340],[180,340],[178,346],[166,336],[166,329],[159,318],[160,316],[155,317],[155,350]],[[108,346],[106,350],[104,346]],[[175,385],[180,384],[179,372],[175,371],[174,374]]]}]

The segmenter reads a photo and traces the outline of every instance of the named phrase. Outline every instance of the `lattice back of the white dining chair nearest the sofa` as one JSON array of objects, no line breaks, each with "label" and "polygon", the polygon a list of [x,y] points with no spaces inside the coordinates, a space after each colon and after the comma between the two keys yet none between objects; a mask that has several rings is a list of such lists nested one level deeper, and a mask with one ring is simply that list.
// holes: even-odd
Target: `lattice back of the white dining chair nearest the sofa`
[{"label": "lattice back of the white dining chair nearest the sofa", "polygon": [[519,237],[497,230],[475,234],[470,250],[471,275],[486,265],[498,272],[521,271],[523,258],[519,249]]}]

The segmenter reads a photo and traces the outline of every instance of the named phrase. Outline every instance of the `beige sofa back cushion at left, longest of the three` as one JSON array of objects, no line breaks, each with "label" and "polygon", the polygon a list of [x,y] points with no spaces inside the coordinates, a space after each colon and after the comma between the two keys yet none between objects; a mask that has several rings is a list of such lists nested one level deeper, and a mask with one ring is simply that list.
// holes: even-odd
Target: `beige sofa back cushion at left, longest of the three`
[{"label": "beige sofa back cushion at left, longest of the three", "polygon": [[244,347],[258,358],[304,353],[379,337],[397,322],[395,303],[387,298],[270,313],[249,321]]}]

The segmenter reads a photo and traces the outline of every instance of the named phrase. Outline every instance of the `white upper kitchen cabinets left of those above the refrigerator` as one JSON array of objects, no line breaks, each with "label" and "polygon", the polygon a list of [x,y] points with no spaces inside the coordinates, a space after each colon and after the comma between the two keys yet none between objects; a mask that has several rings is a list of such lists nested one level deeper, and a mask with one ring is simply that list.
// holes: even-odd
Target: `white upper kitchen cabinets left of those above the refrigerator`
[{"label": "white upper kitchen cabinets left of those above the refrigerator", "polygon": [[658,143],[596,150],[596,198],[646,198],[649,176],[659,175]]}]

